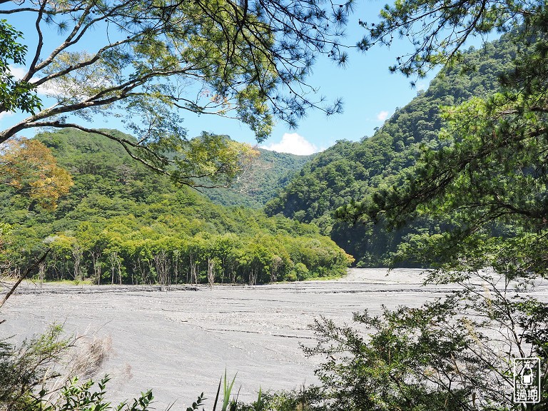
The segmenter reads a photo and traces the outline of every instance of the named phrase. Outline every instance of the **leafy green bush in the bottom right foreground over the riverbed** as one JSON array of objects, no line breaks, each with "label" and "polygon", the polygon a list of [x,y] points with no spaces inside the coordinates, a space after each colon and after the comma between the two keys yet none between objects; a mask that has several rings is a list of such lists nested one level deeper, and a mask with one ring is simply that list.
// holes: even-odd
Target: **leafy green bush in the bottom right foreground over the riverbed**
[{"label": "leafy green bush in the bottom right foreground over the riverbed", "polygon": [[338,410],[521,410],[512,399],[512,359],[542,358],[548,405],[548,305],[509,296],[504,278],[481,274],[421,308],[355,313],[355,328],[315,320],[323,355],[317,375]]}]

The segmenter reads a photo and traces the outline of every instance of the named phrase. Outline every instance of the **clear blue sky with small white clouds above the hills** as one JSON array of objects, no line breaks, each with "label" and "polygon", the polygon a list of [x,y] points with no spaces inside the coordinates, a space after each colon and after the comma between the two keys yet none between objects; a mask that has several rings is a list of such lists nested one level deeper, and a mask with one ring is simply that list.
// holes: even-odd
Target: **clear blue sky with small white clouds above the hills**
[{"label": "clear blue sky with small white clouds above the hills", "polygon": [[[357,0],[355,13],[350,16],[347,26],[346,44],[356,44],[364,34],[358,20],[376,21],[379,10],[385,1]],[[27,34],[27,41],[31,43],[34,29],[32,21],[19,19],[9,21],[17,29]],[[101,37],[101,36],[99,36]],[[33,46],[29,44],[29,49]],[[320,111],[309,111],[298,127],[290,129],[287,124],[279,122],[272,136],[260,146],[275,151],[295,154],[310,154],[332,146],[335,141],[347,139],[360,140],[364,136],[371,136],[375,128],[394,113],[395,108],[405,106],[417,91],[427,88],[432,76],[417,82],[416,88],[411,88],[410,79],[400,74],[392,74],[388,66],[394,63],[395,56],[412,50],[409,39],[395,40],[392,47],[374,47],[362,54],[350,50],[350,59],[345,68],[340,68],[328,59],[318,59],[314,66],[313,75],[308,83],[319,88],[319,93],[328,100],[342,98],[344,112],[335,116],[326,117]],[[20,68],[21,69],[21,68]],[[198,136],[202,131],[227,134],[237,141],[255,144],[253,132],[245,124],[228,118],[215,116],[197,116],[183,113],[184,123],[188,136]],[[0,117],[0,128],[7,123],[16,121],[20,116]],[[102,121],[102,120],[101,120]],[[101,123],[96,127],[117,127],[117,123]],[[119,127],[118,127],[119,128]],[[29,131],[25,135],[31,137],[36,131]]]}]

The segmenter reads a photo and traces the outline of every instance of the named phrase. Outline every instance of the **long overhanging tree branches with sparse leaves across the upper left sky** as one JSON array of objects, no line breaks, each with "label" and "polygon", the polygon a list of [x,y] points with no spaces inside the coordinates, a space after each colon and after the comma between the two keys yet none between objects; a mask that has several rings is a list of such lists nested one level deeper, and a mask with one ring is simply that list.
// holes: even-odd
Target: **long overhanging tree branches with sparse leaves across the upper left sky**
[{"label": "long overhanging tree branches with sparse leaves across the upper left sky", "polygon": [[[188,184],[201,175],[187,175],[180,167],[193,161],[181,113],[238,119],[262,141],[275,118],[295,126],[308,109],[328,115],[341,111],[340,101],[326,104],[306,81],[318,54],[347,61],[340,39],[352,0],[71,0],[62,7],[25,0],[4,5],[0,16],[34,22],[36,41],[22,46],[19,31],[5,21],[0,25],[0,47],[6,51],[0,67],[8,73],[2,75],[7,87],[0,94],[0,113],[30,113],[0,131],[0,143],[29,128],[101,133],[138,161],[173,172],[173,178],[183,176],[181,182]],[[83,51],[91,36],[96,47]],[[30,61],[15,81],[9,61],[23,65],[27,52]],[[36,93],[54,103],[42,108]],[[121,118],[136,141],[95,128],[99,116]],[[170,156],[174,152],[176,158]]]}]

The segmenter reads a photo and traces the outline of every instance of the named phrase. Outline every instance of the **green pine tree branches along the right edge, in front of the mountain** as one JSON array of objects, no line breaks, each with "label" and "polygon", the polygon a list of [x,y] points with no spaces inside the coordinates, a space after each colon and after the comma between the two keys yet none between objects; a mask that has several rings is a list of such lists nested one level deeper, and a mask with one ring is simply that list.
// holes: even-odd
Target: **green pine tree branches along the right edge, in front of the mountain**
[{"label": "green pine tree branches along the right edge, in front of the mountain", "polygon": [[[537,1],[495,2],[492,7],[485,2],[464,4],[472,9],[470,16],[475,14],[475,7],[481,9],[475,24],[485,25],[477,30],[512,28],[504,37],[517,48],[512,66],[499,74],[500,92],[444,107],[444,128],[435,148],[423,146],[415,166],[402,171],[390,186],[343,206],[338,215],[352,220],[382,220],[390,228],[432,218],[450,230],[408,238],[420,247],[413,250],[404,244],[400,256],[409,260],[414,255],[420,263],[444,270],[479,269],[481,260],[487,264],[484,267],[500,268],[500,273],[511,270],[514,275],[545,276],[544,253],[537,253],[539,248],[534,243],[544,241],[548,220],[548,10]],[[397,11],[386,13],[394,13],[395,21],[408,21],[412,26],[424,24],[425,36],[464,34],[467,28],[463,25],[470,16],[462,15],[464,9],[446,6],[410,0],[395,6]],[[421,10],[424,20],[415,16]],[[453,18],[442,17],[445,14]],[[439,17],[440,24],[450,30],[432,28],[427,16]],[[387,26],[381,25],[381,29]],[[414,41],[422,53],[415,55],[418,65],[447,61],[437,60],[437,52],[451,58],[452,52],[443,47],[422,48],[420,38]],[[477,66],[479,63],[463,70]],[[517,247],[526,243],[529,248]],[[502,255],[503,251],[507,255]],[[519,258],[504,268],[502,261],[512,260],[512,255]]]}]

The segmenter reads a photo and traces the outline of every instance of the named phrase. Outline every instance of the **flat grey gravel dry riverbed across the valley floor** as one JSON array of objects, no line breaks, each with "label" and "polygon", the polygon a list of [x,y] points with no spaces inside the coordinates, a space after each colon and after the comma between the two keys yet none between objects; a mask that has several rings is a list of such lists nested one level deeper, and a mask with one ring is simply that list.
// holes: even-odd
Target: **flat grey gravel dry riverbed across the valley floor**
[{"label": "flat grey gravel dry riverbed across the valley floor", "polygon": [[112,353],[101,371],[113,377],[113,400],[152,388],[157,410],[175,400],[173,410],[184,410],[202,391],[212,398],[225,369],[229,376],[238,372],[235,387],[243,400],[253,400],[259,387],[314,383],[323,358],[306,358],[300,349],[300,343],[314,344],[308,330],[314,318],[350,322],[356,311],[418,306],[450,290],[421,283],[420,270],[403,269],[388,275],[352,269],[340,280],[213,290],[30,283],[2,308],[0,338],[21,340],[54,322],[67,333],[109,337]]}]

